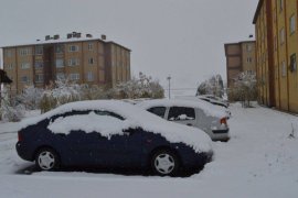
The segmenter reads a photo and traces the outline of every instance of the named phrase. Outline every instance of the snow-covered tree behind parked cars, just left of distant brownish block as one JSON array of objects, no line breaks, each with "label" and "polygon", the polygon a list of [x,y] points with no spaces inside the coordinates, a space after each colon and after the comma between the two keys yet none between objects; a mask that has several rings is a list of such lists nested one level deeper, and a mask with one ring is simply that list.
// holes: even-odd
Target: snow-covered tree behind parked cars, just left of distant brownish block
[{"label": "snow-covered tree behind parked cars, just left of distant brownish block", "polygon": [[200,84],[196,90],[196,96],[199,95],[214,95],[216,97],[222,97],[224,95],[222,76],[212,76],[210,79]]}]

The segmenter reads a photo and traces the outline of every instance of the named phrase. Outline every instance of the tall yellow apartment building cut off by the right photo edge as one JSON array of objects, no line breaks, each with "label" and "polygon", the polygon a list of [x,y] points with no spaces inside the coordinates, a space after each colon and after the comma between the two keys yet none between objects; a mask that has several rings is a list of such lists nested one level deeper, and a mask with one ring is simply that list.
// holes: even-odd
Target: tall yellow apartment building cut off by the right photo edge
[{"label": "tall yellow apartment building cut off by the right photo edge", "polygon": [[298,112],[298,0],[259,0],[253,23],[259,103]]}]

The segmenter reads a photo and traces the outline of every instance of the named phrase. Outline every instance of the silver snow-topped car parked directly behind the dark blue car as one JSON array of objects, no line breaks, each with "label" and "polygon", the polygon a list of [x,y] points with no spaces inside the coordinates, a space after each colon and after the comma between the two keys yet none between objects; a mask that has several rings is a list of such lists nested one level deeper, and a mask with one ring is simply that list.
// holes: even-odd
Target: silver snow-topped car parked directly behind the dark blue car
[{"label": "silver snow-topped car parked directly behind the dark blue car", "polygon": [[157,99],[137,105],[168,121],[203,130],[213,141],[228,141],[226,112],[202,100]]}]

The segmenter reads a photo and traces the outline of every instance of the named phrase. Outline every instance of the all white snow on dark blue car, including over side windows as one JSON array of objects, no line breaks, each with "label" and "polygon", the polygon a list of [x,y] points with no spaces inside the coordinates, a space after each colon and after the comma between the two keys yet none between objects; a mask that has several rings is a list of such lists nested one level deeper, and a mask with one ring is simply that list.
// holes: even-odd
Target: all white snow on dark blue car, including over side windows
[{"label": "all white snow on dark blue car, including over side windows", "polygon": [[[109,125],[108,130],[103,131],[103,134],[106,136],[110,136],[116,133],[123,135],[123,130],[140,127],[146,131],[161,134],[169,142],[182,142],[191,146],[196,153],[209,152],[212,150],[211,140],[202,130],[164,121],[163,119],[158,118],[138,107],[119,100],[91,100],[66,103],[40,117],[26,119],[22,121],[21,125],[22,128],[25,128],[46,118],[50,119],[54,114],[62,114],[72,110],[110,111],[123,117],[125,119],[124,123],[119,123],[119,121],[117,121],[116,125]],[[95,114],[89,114],[85,118],[83,118],[83,116],[70,117],[54,121],[54,123],[50,125],[50,130],[53,130],[55,133],[66,134],[70,133],[71,130],[76,129],[83,129],[86,132],[92,132],[92,130],[100,131],[103,128],[99,124],[96,124],[96,122],[103,123],[107,121],[100,119],[98,117],[96,118]],[[110,120],[110,118],[106,119]]]}]

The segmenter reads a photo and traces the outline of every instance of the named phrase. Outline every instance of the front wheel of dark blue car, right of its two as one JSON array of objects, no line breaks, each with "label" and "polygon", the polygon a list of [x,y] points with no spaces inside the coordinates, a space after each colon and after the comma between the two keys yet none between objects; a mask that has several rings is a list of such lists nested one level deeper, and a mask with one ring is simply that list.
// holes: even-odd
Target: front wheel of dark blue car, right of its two
[{"label": "front wheel of dark blue car, right of its two", "polygon": [[160,176],[174,176],[179,169],[178,156],[168,150],[158,151],[151,158],[151,167]]}]

